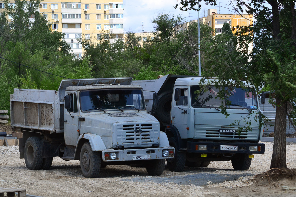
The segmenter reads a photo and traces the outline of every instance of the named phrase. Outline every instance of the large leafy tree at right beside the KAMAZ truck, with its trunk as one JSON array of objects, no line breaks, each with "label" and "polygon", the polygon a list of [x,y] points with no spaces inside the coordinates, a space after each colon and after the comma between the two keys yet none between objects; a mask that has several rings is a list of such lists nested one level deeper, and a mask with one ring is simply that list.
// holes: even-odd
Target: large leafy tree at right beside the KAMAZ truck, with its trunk
[{"label": "large leafy tree at right beside the KAMAZ truck, with its trunk", "polygon": [[[267,4],[269,4],[267,6]],[[216,4],[215,0],[206,0],[206,4]],[[295,1],[276,0],[237,0],[237,11],[246,11],[255,17],[254,25],[237,27],[239,48],[247,51],[248,43],[253,42],[253,50],[246,54],[247,63],[242,64],[244,71],[235,75],[218,76],[218,79],[245,81],[257,87],[269,84],[275,92],[276,119],[274,128],[274,148],[270,168],[286,169],[286,117],[295,123],[296,95],[296,11]],[[197,1],[181,0],[180,9],[200,9]],[[196,7],[197,6],[197,7]],[[178,5],[176,5],[178,7]],[[243,8],[247,8],[244,10]],[[226,65],[228,66],[228,65]],[[266,79],[266,81],[264,80]],[[293,121],[294,120],[294,121]]]}]

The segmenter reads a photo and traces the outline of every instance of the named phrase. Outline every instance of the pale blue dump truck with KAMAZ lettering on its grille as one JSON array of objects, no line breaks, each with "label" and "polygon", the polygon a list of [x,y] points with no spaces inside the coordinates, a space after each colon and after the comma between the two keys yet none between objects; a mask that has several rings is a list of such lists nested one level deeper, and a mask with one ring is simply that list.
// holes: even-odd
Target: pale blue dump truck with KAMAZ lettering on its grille
[{"label": "pale blue dump truck with KAMAZ lettering on its grille", "polygon": [[[166,75],[157,80],[132,82],[144,91],[158,94],[156,106],[152,92],[144,92],[144,98],[147,111],[160,121],[161,129],[175,148],[175,157],[167,159],[168,168],[179,172],[184,166],[207,167],[211,161],[231,160],[234,169],[249,169],[253,154],[265,151],[265,144],[259,143],[263,126],[255,120],[255,116],[257,120],[261,118],[255,88],[229,87],[231,95],[222,101],[229,113],[226,118],[219,109],[222,103],[216,96],[219,89],[211,83],[212,79],[200,82],[201,79]],[[242,127],[244,118],[250,121],[250,129]],[[238,124],[236,120],[242,121]]]}]

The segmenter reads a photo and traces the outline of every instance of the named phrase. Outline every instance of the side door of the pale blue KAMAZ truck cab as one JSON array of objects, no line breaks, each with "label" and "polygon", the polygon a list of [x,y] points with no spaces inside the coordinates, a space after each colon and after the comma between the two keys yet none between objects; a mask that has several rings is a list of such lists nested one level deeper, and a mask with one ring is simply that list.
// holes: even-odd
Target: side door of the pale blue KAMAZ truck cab
[{"label": "side door of the pale blue KAMAZ truck cab", "polygon": [[173,109],[171,111],[173,125],[177,127],[181,138],[187,138],[188,89],[181,89],[180,101],[172,102],[174,102]]}]

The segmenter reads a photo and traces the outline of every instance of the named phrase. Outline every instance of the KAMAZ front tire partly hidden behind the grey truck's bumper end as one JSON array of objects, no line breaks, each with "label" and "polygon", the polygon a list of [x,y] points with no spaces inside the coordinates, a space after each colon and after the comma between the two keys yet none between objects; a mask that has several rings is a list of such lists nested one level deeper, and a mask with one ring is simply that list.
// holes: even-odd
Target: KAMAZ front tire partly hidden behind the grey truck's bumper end
[{"label": "KAMAZ front tire partly hidden behind the grey truck's bumper end", "polygon": [[175,137],[170,137],[168,140],[170,146],[175,148],[174,158],[167,159],[168,169],[173,172],[181,172],[184,170],[186,162],[186,152],[178,152],[177,141]]}]

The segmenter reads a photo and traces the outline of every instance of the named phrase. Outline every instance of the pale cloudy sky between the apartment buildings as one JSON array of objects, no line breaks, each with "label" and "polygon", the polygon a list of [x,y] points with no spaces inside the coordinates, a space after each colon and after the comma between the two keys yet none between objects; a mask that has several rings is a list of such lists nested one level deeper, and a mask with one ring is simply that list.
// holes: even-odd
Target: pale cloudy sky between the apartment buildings
[{"label": "pale cloudy sky between the apartment buildings", "polygon": [[[217,9],[219,14],[235,14],[230,0],[217,0],[217,5],[205,5],[202,1],[200,18],[207,16],[208,9]],[[154,24],[152,20],[157,15],[170,14],[182,15],[186,22],[198,19],[197,11],[181,11],[178,0],[123,0],[123,27],[125,32],[138,33],[142,32],[142,22],[144,31],[154,32]],[[219,6],[220,4],[220,6]],[[170,13],[169,13],[170,12]]]}]

